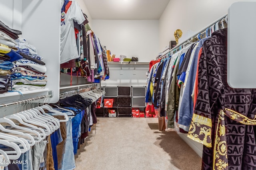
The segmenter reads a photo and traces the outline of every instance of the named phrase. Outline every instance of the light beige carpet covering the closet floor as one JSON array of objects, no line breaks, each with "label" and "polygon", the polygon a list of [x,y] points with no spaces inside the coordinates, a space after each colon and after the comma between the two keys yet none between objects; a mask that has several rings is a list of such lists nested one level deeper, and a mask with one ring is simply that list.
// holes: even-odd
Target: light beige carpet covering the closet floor
[{"label": "light beige carpet covering the closet floor", "polygon": [[[95,128],[95,126],[93,127]],[[200,170],[201,158],[157,118],[98,118],[75,170]]]}]

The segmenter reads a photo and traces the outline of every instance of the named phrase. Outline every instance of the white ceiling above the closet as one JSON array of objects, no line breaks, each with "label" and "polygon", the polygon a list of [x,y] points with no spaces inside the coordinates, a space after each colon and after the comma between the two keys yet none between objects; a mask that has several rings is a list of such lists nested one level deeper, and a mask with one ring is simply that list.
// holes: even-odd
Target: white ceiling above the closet
[{"label": "white ceiling above the closet", "polygon": [[94,20],[158,20],[170,0],[84,0]]}]

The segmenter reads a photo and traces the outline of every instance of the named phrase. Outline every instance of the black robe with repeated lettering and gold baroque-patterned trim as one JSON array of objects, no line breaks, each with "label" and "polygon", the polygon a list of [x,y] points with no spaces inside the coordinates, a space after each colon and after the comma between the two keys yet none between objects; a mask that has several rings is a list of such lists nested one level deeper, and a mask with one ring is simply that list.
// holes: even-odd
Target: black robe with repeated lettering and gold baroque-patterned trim
[{"label": "black robe with repeated lettering and gold baroque-patterned trim", "polygon": [[256,90],[227,83],[227,29],[204,42],[188,137],[204,145],[202,170],[256,169]]}]

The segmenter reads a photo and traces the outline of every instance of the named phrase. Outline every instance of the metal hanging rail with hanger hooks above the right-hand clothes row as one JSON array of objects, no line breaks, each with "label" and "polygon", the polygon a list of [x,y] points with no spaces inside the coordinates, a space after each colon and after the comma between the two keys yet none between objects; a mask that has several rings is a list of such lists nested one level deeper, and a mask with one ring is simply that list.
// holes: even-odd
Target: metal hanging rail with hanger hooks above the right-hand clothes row
[{"label": "metal hanging rail with hanger hooks above the right-hand clothes row", "polygon": [[209,29],[210,27],[214,26],[216,23],[222,21],[227,23],[227,19],[228,19],[228,14],[222,16],[221,18],[219,18],[218,20],[210,23],[207,27],[201,29],[198,33],[196,33],[195,35],[193,35],[192,37],[188,38],[186,41],[183,41],[182,43],[179,43],[178,45],[176,45],[176,47],[168,50],[167,52],[165,52],[164,54],[162,54],[161,56],[156,57],[156,59],[162,59],[164,56],[166,56],[168,53],[173,53],[173,52],[177,52],[179,51],[180,47],[185,46],[191,42],[197,41],[198,40],[198,35],[199,36],[204,36],[206,35],[206,29]]}]

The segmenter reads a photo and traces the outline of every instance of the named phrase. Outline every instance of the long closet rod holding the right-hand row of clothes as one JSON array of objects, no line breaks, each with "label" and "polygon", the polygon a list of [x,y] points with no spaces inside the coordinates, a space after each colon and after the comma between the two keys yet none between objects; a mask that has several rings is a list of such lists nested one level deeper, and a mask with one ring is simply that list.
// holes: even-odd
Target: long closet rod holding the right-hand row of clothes
[{"label": "long closet rod holding the right-hand row of clothes", "polygon": [[201,29],[200,31],[198,31],[198,33],[194,34],[192,37],[188,38],[187,40],[183,41],[182,43],[179,43],[178,45],[176,45],[176,46],[173,47],[172,49],[168,50],[166,53],[162,54],[161,56],[156,57],[156,59],[161,59],[161,58],[164,57],[166,54],[168,54],[168,53],[170,53],[170,52],[172,52],[172,51],[174,51],[174,50],[179,49],[180,46],[182,46],[183,44],[186,44],[186,43],[190,42],[191,40],[196,39],[198,34],[204,35],[204,34],[206,33],[206,29],[207,29],[207,28],[209,28],[209,27],[211,27],[212,25],[214,25],[215,23],[217,23],[217,22],[219,22],[219,21],[225,19],[226,16],[228,16],[228,14],[226,14],[226,15],[222,16],[221,18],[219,18],[218,20],[216,20],[216,21],[210,23],[207,27],[205,27],[205,28]]}]

